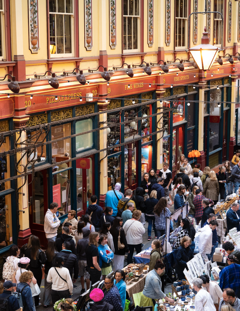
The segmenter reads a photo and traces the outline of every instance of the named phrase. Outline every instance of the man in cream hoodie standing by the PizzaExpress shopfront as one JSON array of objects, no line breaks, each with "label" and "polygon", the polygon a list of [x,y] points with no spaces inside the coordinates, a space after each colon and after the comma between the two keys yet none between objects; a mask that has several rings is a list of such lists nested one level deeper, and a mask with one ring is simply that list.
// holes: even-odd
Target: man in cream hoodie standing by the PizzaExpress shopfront
[{"label": "man in cream hoodie standing by the PizzaExpress shopfront", "polygon": [[44,232],[48,241],[56,241],[58,227],[60,226],[60,220],[58,219],[56,212],[58,210],[58,203],[53,202],[50,204],[50,209],[47,210],[44,218]]}]

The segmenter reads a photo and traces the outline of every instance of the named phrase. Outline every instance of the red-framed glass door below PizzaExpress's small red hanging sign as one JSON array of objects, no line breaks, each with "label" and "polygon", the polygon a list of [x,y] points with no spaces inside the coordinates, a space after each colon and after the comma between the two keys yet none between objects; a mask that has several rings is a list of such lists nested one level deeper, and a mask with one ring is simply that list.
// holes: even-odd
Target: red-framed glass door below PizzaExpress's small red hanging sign
[{"label": "red-framed glass door below PizzaExpress's small red hanging sign", "polygon": [[77,168],[77,215],[86,213],[88,205],[92,204],[90,197],[95,194],[94,189],[94,156],[89,157],[90,168]]}]

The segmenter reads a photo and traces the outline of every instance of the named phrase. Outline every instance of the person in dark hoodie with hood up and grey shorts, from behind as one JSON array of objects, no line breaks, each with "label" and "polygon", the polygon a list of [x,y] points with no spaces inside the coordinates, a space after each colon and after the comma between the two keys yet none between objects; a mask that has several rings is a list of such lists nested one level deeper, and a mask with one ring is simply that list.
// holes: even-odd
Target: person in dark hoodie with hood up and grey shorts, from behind
[{"label": "person in dark hoodie with hood up and grey shorts, from behind", "polygon": [[80,280],[81,280],[81,285],[82,285],[82,290],[81,290],[81,295],[85,293],[85,288],[84,288],[84,275],[87,279],[87,290],[90,288],[90,274],[88,271],[85,269],[87,266],[87,256],[85,253],[85,248],[88,245],[89,242],[89,234],[91,233],[89,228],[83,228],[82,229],[83,233],[83,238],[81,240],[78,240],[77,244],[77,257],[78,257],[78,268],[79,272],[78,275],[80,275]]}]

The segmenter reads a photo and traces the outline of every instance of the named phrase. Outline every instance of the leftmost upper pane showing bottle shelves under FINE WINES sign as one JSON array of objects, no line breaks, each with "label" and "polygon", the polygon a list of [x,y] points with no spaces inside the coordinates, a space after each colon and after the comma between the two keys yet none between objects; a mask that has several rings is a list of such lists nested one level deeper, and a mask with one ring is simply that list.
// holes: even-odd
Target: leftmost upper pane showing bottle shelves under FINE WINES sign
[{"label": "leftmost upper pane showing bottle shelves under FINE WINES sign", "polygon": [[118,123],[120,122],[120,112],[109,113],[107,115],[107,124],[109,126],[110,132],[108,133],[108,141],[107,147],[113,147],[108,150],[108,154],[116,153],[120,150],[120,147],[117,147],[120,144],[120,126]]}]

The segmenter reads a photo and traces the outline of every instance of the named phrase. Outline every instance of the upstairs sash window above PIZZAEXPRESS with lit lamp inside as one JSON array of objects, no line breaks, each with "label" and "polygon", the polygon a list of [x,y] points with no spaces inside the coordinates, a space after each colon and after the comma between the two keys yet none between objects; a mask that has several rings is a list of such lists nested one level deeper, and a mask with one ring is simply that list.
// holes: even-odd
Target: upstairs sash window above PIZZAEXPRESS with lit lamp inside
[{"label": "upstairs sash window above PIZZAEXPRESS with lit lamp inside", "polygon": [[51,57],[73,56],[73,0],[49,0]]}]

